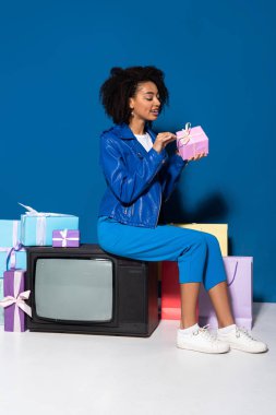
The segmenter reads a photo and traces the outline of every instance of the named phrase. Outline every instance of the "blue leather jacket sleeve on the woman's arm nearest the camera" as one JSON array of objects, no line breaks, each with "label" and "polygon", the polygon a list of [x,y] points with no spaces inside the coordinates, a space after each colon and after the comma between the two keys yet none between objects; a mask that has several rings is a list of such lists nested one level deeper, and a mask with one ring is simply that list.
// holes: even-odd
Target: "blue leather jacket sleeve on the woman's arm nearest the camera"
[{"label": "blue leather jacket sleeve on the woman's arm nearest the camera", "polygon": [[123,155],[112,138],[100,139],[100,165],[113,194],[122,203],[131,204],[151,185],[166,159],[166,153],[152,149],[146,157],[133,161],[135,166],[128,168]]}]

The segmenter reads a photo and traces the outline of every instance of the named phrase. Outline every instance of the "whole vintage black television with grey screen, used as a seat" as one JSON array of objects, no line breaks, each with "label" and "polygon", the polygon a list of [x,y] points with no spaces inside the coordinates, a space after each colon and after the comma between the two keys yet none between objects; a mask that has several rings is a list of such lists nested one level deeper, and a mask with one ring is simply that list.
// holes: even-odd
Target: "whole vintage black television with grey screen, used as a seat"
[{"label": "whole vintage black television with grey screen, used as a seat", "polygon": [[97,245],[26,249],[29,331],[149,336],[158,325],[157,263]]}]

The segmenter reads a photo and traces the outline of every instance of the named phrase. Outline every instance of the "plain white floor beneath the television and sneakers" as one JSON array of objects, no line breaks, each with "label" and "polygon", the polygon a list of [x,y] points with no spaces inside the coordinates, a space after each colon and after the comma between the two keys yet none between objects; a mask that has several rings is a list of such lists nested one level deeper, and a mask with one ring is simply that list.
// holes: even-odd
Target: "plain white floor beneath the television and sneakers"
[{"label": "plain white floor beneath the television and sneakers", "polygon": [[179,349],[177,321],[161,321],[148,339],[1,327],[0,414],[275,414],[276,304],[254,304],[254,315],[266,354]]}]

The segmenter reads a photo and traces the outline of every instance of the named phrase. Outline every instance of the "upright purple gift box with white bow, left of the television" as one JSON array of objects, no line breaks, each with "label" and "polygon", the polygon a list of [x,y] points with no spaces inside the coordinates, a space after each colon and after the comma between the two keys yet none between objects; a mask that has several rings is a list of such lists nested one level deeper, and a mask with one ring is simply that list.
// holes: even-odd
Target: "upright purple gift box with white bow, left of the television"
[{"label": "upright purple gift box with white bow, left of the television", "polygon": [[0,306],[4,309],[4,331],[23,332],[26,330],[25,313],[32,316],[31,307],[25,303],[29,290],[24,292],[25,270],[9,270],[3,274],[4,298]]}]

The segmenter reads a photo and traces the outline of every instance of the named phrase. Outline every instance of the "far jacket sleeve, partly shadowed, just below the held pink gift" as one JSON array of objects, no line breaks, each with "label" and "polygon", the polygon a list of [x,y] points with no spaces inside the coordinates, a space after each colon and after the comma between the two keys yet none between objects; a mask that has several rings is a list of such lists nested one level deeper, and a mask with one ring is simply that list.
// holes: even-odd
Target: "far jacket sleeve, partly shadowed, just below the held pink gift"
[{"label": "far jacket sleeve, partly shadowed, just below the held pink gift", "polygon": [[179,155],[173,154],[168,158],[168,162],[164,165],[160,170],[160,181],[163,187],[163,199],[166,202],[180,178],[180,175],[187,165],[187,161],[183,161]]}]

